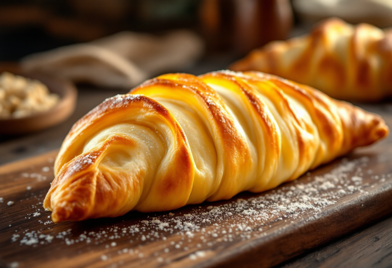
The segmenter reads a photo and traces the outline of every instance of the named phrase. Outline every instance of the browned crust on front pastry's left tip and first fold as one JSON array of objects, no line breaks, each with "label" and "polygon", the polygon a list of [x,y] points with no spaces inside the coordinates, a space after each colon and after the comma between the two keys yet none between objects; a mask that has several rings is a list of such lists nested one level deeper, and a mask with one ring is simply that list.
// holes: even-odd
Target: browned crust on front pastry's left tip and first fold
[{"label": "browned crust on front pastry's left tip and first fold", "polygon": [[[56,178],[44,201],[44,207],[53,211],[53,221],[79,221],[85,218],[102,217],[103,215],[117,216],[124,214],[129,210],[122,211],[121,208],[124,207],[124,204],[114,202],[118,201],[121,196],[128,199],[133,197],[135,200],[124,202],[134,203],[133,207],[138,204],[139,210],[149,211],[148,208],[143,208],[145,204],[139,200],[143,176],[145,175],[144,169],[140,167],[133,174],[118,172],[112,175],[111,170],[105,172],[105,168],[100,166],[104,157],[111,153],[108,152],[110,147],[116,144],[121,147],[132,146],[135,145],[135,141],[126,135],[114,134],[108,137],[99,147],[82,153],[83,146],[91,138],[91,135],[112,124],[137,120],[137,118],[134,118],[137,116],[132,116],[137,113],[152,113],[154,117],[164,121],[173,135],[174,140],[171,142],[175,147],[175,153],[169,162],[175,162],[181,166],[181,168],[163,170],[160,174],[161,177],[156,179],[151,187],[150,194],[154,196],[155,201],[158,201],[158,206],[163,208],[171,207],[175,209],[186,204],[192,188],[193,163],[189,145],[181,127],[162,105],[146,96],[116,96],[107,99],[82,117],[65,138],[56,159]],[[165,134],[167,135],[167,132]],[[72,156],[75,155],[77,157],[72,159]],[[173,164],[172,167],[174,167]],[[116,184],[116,176],[124,177],[123,181],[118,180],[118,185]],[[135,190],[132,194],[127,192],[130,187],[124,187],[130,181],[132,181],[131,188]],[[99,187],[100,185],[102,187]],[[81,194],[79,195],[78,192],[81,192]],[[108,202],[108,200],[111,201]],[[144,200],[144,202],[151,201]],[[107,206],[108,203],[111,204]],[[102,211],[102,208],[106,208],[107,211]]]}]

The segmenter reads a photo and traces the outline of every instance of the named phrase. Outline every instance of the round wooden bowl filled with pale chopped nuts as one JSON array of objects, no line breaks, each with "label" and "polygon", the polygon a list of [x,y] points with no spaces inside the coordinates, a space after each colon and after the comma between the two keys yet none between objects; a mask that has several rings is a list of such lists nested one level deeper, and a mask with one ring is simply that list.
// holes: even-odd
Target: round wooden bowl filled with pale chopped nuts
[{"label": "round wooden bowl filled with pale chopped nuts", "polygon": [[40,74],[0,74],[0,134],[22,134],[54,126],[75,109],[70,82]]}]

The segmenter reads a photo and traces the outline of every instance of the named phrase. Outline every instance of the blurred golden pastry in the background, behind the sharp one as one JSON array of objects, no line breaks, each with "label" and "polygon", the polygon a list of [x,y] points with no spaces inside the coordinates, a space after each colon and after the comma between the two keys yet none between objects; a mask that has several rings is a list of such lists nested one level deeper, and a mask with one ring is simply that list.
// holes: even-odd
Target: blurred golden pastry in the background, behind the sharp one
[{"label": "blurred golden pastry in the background, behind the sharp one", "polygon": [[267,72],[340,100],[378,101],[392,96],[392,30],[330,18],[309,34],[257,48],[229,69]]}]

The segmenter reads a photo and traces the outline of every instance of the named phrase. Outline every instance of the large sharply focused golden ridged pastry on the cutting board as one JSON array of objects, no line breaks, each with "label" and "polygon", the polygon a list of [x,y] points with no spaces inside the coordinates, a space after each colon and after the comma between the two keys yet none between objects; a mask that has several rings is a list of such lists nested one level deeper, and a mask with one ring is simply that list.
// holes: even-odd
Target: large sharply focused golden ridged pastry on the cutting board
[{"label": "large sharply focused golden ridged pastry on the cutting board", "polygon": [[376,114],[261,72],[162,75],[77,121],[44,208],[61,222],[230,199],[387,134]]}]

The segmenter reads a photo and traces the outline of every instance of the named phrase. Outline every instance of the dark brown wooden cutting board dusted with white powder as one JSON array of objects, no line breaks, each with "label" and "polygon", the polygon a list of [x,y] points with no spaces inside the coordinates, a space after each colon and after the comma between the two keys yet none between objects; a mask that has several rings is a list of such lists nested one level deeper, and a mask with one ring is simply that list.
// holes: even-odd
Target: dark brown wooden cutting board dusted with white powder
[{"label": "dark brown wooden cutting board dusted with white powder", "polygon": [[392,213],[392,137],[261,194],[60,224],[42,208],[56,153],[0,167],[0,266],[268,267]]}]

